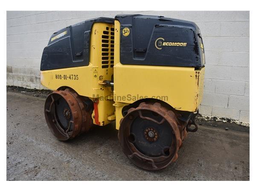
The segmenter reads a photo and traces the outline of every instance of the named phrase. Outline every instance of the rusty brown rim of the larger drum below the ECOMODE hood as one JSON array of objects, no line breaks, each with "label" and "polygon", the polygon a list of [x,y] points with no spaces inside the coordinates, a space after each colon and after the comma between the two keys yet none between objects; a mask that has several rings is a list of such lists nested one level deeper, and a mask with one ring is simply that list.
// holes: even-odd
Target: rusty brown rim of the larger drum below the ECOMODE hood
[{"label": "rusty brown rim of the larger drum below the ECOMODE hood", "polygon": [[[155,119],[154,116],[146,116],[144,114],[144,111],[152,111],[162,116],[163,119],[159,120],[159,119]],[[166,148],[168,150],[168,153],[165,154],[165,157],[161,155],[161,156],[152,158],[147,154],[141,153],[137,149],[137,147],[133,144],[133,141],[131,141],[131,137],[130,137],[131,136],[130,129],[131,129],[132,123],[134,122],[134,119],[136,119],[137,117],[140,117],[140,119],[143,119],[143,120],[145,119],[150,120],[159,125],[161,125],[165,121],[168,122],[170,128],[172,128],[172,133],[173,133],[172,137],[173,139],[175,138],[174,139],[175,143],[172,143],[172,146],[170,146],[169,148]],[[152,128],[151,131],[154,131],[154,128]],[[157,102],[156,103],[142,102],[137,108],[130,108],[128,110],[128,113],[125,115],[125,117],[122,118],[120,121],[119,142],[121,143],[123,152],[134,164],[136,164],[140,168],[147,169],[147,170],[163,169],[166,166],[168,166],[170,163],[174,162],[178,157],[177,151],[181,147],[182,141],[186,137],[186,135],[187,135],[186,122],[182,122],[178,120],[174,111],[169,110],[168,108],[165,108],[164,106],[162,106],[160,103],[157,103]],[[159,136],[158,134],[157,136],[160,139],[161,136]],[[149,145],[147,143],[144,143],[144,144]]]}]

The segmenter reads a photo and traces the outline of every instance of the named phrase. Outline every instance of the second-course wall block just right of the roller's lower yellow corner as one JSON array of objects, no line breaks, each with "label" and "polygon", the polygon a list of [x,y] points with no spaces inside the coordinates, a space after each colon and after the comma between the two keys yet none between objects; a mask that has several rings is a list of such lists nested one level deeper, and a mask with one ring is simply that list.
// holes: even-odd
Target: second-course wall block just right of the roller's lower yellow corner
[{"label": "second-course wall block just right of the roller's lower yellow corner", "polygon": [[228,95],[218,93],[204,93],[201,105],[227,107]]}]

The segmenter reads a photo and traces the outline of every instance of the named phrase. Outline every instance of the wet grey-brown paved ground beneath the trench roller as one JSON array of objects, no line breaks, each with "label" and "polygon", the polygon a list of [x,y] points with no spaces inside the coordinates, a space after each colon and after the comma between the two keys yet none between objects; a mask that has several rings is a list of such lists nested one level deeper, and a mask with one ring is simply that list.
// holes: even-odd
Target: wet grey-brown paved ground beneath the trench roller
[{"label": "wet grey-brown paved ground beneath the trench roller", "polygon": [[249,133],[199,126],[175,163],[149,172],[122,153],[114,124],[69,142],[49,131],[44,99],[7,92],[7,180],[249,180]]}]

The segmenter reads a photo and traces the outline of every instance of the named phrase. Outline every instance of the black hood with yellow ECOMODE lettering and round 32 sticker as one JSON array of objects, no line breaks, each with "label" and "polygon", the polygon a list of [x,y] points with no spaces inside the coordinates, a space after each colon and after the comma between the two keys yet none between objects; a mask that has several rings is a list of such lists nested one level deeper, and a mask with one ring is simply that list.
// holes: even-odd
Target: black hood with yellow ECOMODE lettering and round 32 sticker
[{"label": "black hood with yellow ECOMODE lettering and round 32 sticker", "polygon": [[195,23],[151,15],[117,15],[115,19],[120,22],[122,64],[204,65],[203,41]]}]

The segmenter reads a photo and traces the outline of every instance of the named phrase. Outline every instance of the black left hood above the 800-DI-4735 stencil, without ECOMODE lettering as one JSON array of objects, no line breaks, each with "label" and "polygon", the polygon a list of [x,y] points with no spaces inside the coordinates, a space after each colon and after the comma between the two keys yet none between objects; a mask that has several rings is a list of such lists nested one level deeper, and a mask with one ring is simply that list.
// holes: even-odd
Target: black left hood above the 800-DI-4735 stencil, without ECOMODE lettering
[{"label": "black left hood above the 800-DI-4735 stencil, without ECOMODE lettering", "polygon": [[93,23],[114,23],[99,17],[68,26],[52,34],[41,58],[41,71],[89,64],[90,31]]}]

